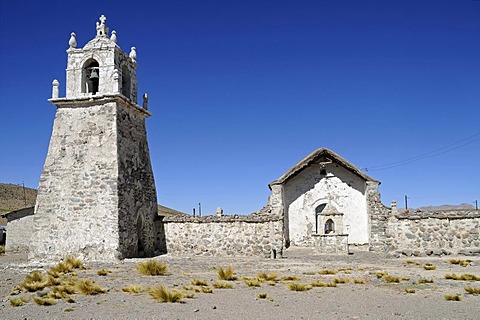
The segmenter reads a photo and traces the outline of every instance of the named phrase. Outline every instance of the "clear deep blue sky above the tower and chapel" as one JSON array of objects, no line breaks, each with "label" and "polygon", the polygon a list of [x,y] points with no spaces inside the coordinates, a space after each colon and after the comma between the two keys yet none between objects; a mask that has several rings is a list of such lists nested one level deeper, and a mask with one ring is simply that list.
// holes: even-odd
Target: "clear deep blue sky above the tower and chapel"
[{"label": "clear deep blue sky above the tower and chapel", "polygon": [[137,48],[161,204],[253,212],[320,147],[372,168],[387,205],[480,200],[480,1],[69,3],[0,0],[1,182],[38,186],[70,33],[84,46],[105,14]]}]

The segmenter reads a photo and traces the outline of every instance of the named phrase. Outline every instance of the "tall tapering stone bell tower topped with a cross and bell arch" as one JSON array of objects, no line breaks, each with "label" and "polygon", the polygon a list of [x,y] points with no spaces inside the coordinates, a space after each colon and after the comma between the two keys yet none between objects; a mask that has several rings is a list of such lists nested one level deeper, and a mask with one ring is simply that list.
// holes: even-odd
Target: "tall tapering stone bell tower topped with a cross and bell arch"
[{"label": "tall tapering stone bell tower topped with a cross and bell arch", "polygon": [[137,105],[137,54],[109,36],[67,50],[65,98],[54,80],[52,137],[38,187],[29,258],[87,260],[151,256],[157,197],[147,144],[146,94]]}]

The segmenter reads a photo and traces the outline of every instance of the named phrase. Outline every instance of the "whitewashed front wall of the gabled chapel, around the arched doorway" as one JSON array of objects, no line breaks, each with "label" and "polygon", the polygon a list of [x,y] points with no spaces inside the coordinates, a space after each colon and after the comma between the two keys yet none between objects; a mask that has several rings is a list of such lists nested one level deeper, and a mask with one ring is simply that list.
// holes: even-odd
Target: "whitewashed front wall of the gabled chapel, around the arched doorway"
[{"label": "whitewashed front wall of the gabled chapel, around the arched doorway", "polygon": [[343,214],[343,228],[336,233],[348,234],[349,243],[367,244],[365,180],[335,164],[327,166],[327,172],[321,175],[319,167],[311,165],[283,186],[291,245],[311,246],[316,230],[323,233],[323,224],[315,227],[315,208],[324,203]]}]

